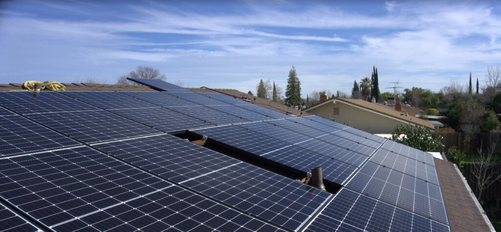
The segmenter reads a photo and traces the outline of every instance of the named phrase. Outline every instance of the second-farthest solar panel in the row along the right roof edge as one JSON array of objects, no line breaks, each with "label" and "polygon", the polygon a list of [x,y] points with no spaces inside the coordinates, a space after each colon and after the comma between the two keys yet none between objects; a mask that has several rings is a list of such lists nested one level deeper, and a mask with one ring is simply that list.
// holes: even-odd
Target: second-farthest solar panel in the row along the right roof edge
[{"label": "second-farthest solar panel in the row along the right roof edge", "polygon": [[386,149],[379,149],[370,159],[377,164],[439,185],[435,167]]}]

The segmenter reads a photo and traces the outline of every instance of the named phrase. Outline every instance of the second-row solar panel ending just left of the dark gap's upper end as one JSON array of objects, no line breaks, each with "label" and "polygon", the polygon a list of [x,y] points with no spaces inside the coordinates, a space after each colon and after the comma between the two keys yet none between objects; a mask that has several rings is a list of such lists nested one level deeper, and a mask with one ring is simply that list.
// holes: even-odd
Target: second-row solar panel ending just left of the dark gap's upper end
[{"label": "second-row solar panel ending just left of the dark gap's upper end", "polygon": [[160,133],[159,130],[104,110],[36,113],[29,116],[85,143]]}]

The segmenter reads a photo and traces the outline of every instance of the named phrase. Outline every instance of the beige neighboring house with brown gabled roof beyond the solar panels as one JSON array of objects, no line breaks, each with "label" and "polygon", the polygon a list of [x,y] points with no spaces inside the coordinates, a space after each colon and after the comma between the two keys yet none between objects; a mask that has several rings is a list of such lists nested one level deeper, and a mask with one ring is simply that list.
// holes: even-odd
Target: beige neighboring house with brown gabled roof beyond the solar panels
[{"label": "beige neighboring house with brown gabled roof beyond the solar panels", "polygon": [[396,126],[408,123],[435,128],[431,122],[413,114],[362,99],[334,97],[310,106],[305,111],[375,134],[392,133]]}]

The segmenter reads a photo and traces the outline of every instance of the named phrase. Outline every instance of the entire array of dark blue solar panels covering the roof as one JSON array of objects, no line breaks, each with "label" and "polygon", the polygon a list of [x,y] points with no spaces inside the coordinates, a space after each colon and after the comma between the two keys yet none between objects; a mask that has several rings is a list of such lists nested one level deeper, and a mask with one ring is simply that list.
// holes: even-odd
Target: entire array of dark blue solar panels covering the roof
[{"label": "entire array of dark blue solar panels covering the roof", "polygon": [[[318,116],[163,92],[0,92],[0,230],[448,231],[433,158]],[[196,145],[206,135],[322,191]]]}]

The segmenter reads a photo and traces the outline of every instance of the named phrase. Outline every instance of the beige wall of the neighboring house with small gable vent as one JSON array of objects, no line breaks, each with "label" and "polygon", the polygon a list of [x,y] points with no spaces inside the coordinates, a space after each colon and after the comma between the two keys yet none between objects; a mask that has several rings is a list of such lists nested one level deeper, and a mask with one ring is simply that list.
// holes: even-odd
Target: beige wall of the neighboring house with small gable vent
[{"label": "beige wall of the neighboring house with small gable vent", "polygon": [[[407,122],[340,101],[332,102],[334,101],[312,108],[308,112],[370,133],[392,133],[397,125],[407,124]],[[339,107],[339,115],[334,115],[335,107]]]}]

